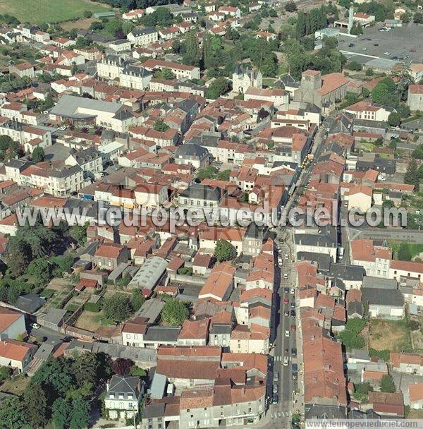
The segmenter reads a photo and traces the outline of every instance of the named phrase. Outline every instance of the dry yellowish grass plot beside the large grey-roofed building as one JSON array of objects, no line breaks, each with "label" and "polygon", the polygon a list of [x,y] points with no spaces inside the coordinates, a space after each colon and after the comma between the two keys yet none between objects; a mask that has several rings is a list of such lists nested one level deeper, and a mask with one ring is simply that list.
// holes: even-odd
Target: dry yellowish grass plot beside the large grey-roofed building
[{"label": "dry yellowish grass plot beside the large grey-roofed building", "polygon": [[371,320],[369,346],[375,350],[412,351],[410,330],[405,320]]}]

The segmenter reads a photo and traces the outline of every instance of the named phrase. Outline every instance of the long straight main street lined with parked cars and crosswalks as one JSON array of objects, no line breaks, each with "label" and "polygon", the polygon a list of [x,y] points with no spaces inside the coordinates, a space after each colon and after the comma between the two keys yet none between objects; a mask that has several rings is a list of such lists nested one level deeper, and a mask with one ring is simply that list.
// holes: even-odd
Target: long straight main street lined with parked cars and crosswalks
[{"label": "long straight main street lined with parked cars and crosswalks", "polygon": [[[295,207],[299,196],[307,188],[314,162],[324,150],[324,135],[331,127],[333,119],[328,117],[319,127],[310,148],[313,162],[309,162],[290,195],[285,210]],[[276,270],[276,293],[274,294],[274,319],[272,321],[273,342],[269,370],[267,396],[269,406],[269,424],[267,428],[290,428],[293,413],[304,413],[304,385],[302,380],[302,343],[300,329],[300,309],[296,288],[295,252],[293,230],[282,226],[274,230],[279,270]],[[297,365],[298,370],[293,370]]]}]

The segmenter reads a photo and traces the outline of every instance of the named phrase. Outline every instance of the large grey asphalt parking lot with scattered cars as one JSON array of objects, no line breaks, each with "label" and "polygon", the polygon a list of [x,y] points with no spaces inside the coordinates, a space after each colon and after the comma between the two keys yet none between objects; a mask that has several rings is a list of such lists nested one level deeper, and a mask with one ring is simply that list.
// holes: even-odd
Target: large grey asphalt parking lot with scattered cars
[{"label": "large grey asphalt parking lot with scattered cars", "polygon": [[[350,61],[360,61],[362,64],[372,60],[370,56],[423,63],[423,25],[409,23],[404,27],[392,28],[389,32],[381,32],[379,28],[381,24],[363,28],[364,34],[357,38],[339,35],[338,49],[347,54]],[[410,58],[403,59],[404,56]]]}]

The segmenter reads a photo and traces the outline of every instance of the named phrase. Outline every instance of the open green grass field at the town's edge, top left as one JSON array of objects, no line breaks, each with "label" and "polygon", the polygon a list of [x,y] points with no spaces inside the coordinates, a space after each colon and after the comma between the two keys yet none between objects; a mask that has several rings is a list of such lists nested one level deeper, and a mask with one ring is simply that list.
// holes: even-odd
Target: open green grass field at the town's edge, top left
[{"label": "open green grass field at the town's edge, top left", "polygon": [[0,14],[31,24],[56,23],[82,17],[84,11],[105,12],[109,7],[90,0],[0,0]]}]

